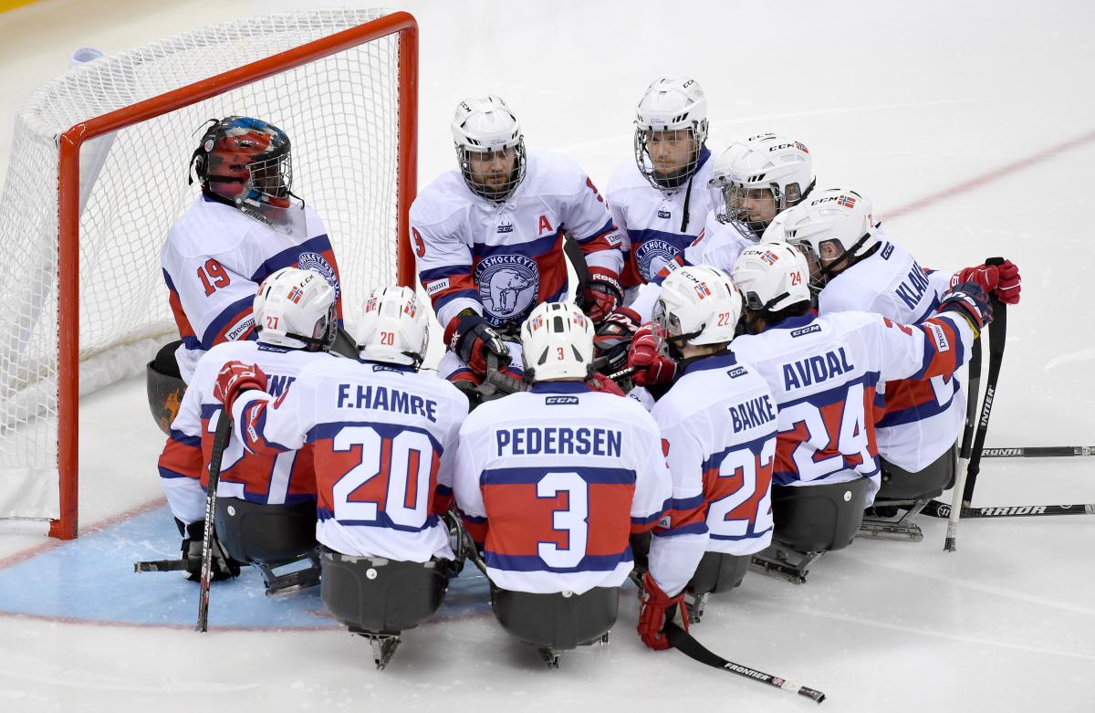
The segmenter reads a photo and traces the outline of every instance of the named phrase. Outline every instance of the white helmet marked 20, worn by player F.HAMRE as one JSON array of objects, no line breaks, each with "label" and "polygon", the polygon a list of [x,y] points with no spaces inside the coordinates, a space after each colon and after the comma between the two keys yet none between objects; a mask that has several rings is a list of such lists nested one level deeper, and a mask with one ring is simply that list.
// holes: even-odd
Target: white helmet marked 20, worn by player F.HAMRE
[{"label": "white helmet marked 20, worn by player F.HAMRE", "polygon": [[413,289],[379,287],[369,292],[358,329],[358,356],[418,368],[428,344],[429,319]]}]

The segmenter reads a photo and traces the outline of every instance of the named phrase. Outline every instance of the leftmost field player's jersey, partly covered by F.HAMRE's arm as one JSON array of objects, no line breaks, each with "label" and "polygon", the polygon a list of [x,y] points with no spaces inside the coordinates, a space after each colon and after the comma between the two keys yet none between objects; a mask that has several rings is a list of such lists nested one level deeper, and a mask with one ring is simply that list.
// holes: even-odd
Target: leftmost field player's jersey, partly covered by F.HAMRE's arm
[{"label": "leftmost field player's jersey, partly covered by F.HAMRE's arm", "polygon": [[[212,390],[217,373],[226,363],[257,364],[268,378],[267,392],[276,399],[285,393],[304,366],[335,358],[324,352],[287,349],[252,341],[222,342],[206,352],[198,360],[160,455],[160,478],[172,514],[187,524],[205,517],[203,488],[209,483],[212,436],[222,409]],[[254,455],[244,452],[243,444],[233,438],[221,459],[217,495],[264,505],[315,501],[311,447],[277,455]]]}]

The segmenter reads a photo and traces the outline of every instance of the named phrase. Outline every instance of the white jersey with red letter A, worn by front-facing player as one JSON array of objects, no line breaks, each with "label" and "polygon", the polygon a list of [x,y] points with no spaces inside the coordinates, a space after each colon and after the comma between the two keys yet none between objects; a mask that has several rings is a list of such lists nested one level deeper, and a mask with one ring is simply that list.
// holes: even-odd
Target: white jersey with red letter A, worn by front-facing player
[{"label": "white jersey with red letter A, worn by front-facing player", "polygon": [[555,153],[530,154],[525,180],[502,204],[473,194],[454,169],[411,206],[418,278],[441,329],[465,309],[494,325],[520,324],[537,304],[566,299],[564,235],[590,268],[623,268],[623,239],[604,199]]}]

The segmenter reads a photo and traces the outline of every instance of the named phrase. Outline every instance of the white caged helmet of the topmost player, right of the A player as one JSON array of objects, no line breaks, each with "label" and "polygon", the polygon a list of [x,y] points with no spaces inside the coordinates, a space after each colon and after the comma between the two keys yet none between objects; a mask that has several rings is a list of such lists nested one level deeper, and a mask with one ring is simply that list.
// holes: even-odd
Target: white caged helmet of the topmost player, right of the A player
[{"label": "white caged helmet of the topmost player, right of the A player", "polygon": [[[687,138],[669,140],[662,135],[682,130],[689,131]],[[666,146],[680,146],[679,151],[672,151],[672,160],[668,154],[657,160],[652,156],[654,142],[662,140]],[[635,107],[635,164],[650,185],[658,189],[684,185],[695,173],[706,140],[707,97],[699,82],[662,77],[646,88]],[[659,162],[665,164],[661,170]]]}]

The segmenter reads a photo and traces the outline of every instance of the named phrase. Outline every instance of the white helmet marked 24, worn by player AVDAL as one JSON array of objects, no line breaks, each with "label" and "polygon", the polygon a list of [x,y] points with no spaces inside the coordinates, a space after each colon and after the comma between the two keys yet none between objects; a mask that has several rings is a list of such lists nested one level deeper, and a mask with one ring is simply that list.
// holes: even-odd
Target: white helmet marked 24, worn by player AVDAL
[{"label": "white helmet marked 24, worn by player AVDAL", "polygon": [[750,311],[779,312],[810,303],[809,275],[806,256],[794,245],[764,241],[741,252],[730,279]]}]

